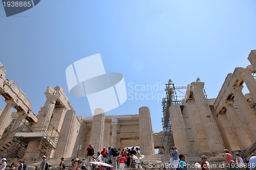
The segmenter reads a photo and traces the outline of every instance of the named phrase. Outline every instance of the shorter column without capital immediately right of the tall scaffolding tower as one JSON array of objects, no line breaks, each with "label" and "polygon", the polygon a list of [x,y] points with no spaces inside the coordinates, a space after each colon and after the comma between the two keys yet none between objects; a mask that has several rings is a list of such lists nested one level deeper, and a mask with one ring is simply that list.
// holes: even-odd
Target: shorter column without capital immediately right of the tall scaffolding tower
[{"label": "shorter column without capital immediately right of the tall scaffolding tower", "polygon": [[180,153],[189,153],[189,143],[186,134],[186,128],[182,118],[180,106],[173,105],[169,107],[170,120],[172,123],[174,144]]}]

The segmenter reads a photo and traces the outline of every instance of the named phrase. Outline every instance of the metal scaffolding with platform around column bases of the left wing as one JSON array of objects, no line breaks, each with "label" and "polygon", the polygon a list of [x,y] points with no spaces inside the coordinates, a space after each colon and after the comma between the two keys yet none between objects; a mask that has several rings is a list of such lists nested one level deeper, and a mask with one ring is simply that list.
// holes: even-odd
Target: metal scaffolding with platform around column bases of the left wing
[{"label": "metal scaffolding with platform around column bases of the left wing", "polygon": [[[14,132],[13,138],[0,148],[1,155],[5,155],[6,158],[18,159],[22,159],[25,153],[30,155],[31,159],[42,155],[53,157],[59,132],[50,121],[45,127],[34,127],[33,130],[27,123],[20,121]],[[37,147],[30,147],[30,141],[35,142]]]}]

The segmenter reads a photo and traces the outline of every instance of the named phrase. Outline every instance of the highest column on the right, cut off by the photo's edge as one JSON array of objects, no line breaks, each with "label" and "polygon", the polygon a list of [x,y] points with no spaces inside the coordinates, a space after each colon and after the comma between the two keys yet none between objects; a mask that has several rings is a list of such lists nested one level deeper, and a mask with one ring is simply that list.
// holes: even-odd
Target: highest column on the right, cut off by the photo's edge
[{"label": "highest column on the right, cut off by the photo's edge", "polygon": [[256,102],[256,81],[254,80],[251,70],[243,71],[244,74],[244,82],[250,91],[250,95],[252,96],[252,99],[254,102]]}]

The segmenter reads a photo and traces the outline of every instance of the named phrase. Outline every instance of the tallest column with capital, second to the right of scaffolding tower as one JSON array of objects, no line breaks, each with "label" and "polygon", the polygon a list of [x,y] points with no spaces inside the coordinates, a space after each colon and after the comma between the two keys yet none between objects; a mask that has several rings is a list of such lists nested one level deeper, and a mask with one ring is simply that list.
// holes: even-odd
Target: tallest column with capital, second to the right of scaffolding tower
[{"label": "tallest column with capital, second to the right of scaffolding tower", "polygon": [[211,152],[222,151],[224,149],[224,142],[221,138],[215,122],[214,115],[209,108],[205,95],[203,93],[203,82],[193,82],[193,93],[195,101],[198,105],[199,113],[201,115],[202,125],[205,130],[205,136]]}]

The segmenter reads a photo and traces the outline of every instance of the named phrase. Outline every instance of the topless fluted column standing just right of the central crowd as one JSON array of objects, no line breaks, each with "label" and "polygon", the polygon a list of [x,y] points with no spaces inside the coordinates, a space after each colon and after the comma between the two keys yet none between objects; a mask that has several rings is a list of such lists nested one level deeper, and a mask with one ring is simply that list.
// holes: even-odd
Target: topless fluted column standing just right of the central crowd
[{"label": "topless fluted column standing just right of the central crowd", "polygon": [[139,108],[139,138],[140,152],[144,155],[155,155],[150,109],[148,107]]}]

